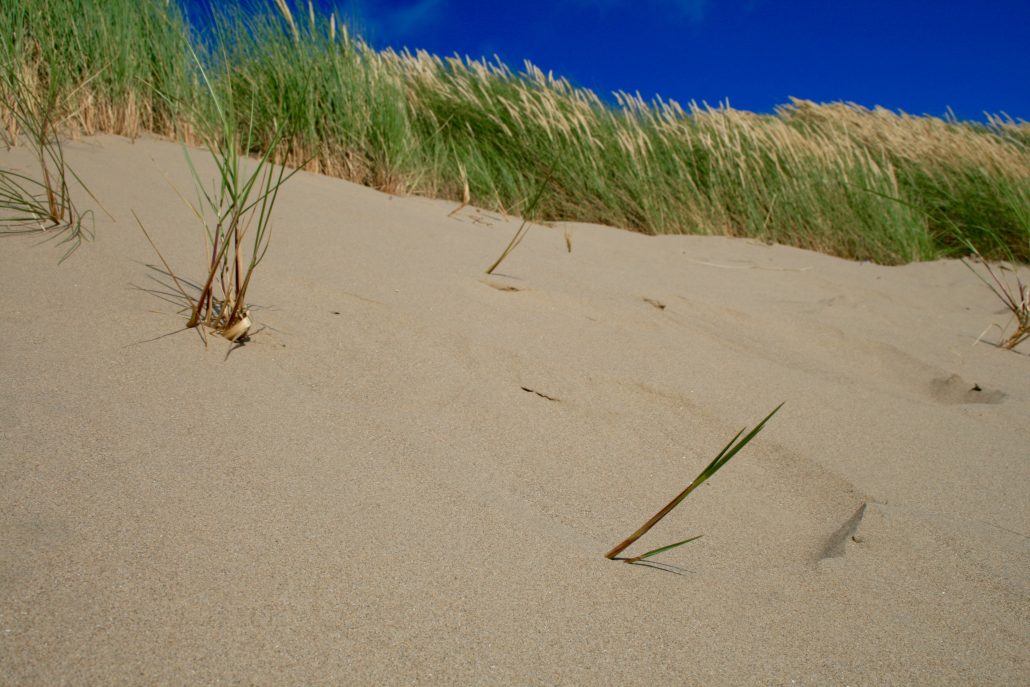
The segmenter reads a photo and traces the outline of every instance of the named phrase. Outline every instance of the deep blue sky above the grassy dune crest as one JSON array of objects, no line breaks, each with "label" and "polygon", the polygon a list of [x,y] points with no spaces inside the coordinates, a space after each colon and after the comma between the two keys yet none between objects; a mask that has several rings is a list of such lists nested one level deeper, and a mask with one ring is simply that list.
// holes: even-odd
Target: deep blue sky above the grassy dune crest
[{"label": "deep blue sky above the grassy dune crest", "polygon": [[[271,4],[271,0],[269,0]],[[377,47],[528,59],[607,96],[1030,119],[1030,0],[317,0]]]}]

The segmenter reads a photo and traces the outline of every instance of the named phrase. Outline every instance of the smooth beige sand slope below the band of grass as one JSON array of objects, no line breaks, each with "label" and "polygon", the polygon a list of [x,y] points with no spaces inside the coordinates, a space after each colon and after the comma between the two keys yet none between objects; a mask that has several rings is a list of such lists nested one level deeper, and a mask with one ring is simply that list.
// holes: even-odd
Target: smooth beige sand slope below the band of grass
[{"label": "smooth beige sand slope below the band of grass", "polygon": [[[576,225],[487,277],[515,219],[299,174],[227,357],[156,338],[181,150],[68,154],[116,221],[0,242],[0,683],[1030,682],[1030,356],[961,264]],[[631,551],[703,539],[603,557],[781,401]]]}]

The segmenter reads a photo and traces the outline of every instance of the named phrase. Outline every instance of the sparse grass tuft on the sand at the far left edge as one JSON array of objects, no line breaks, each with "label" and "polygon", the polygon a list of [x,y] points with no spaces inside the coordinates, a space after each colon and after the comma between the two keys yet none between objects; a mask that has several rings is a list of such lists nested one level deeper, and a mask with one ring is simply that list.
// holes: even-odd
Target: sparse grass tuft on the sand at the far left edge
[{"label": "sparse grass tuft on the sand at the far left edge", "polygon": [[57,131],[59,94],[54,87],[32,88],[9,60],[0,67],[0,107],[9,145],[24,139],[38,164],[38,177],[0,168],[0,234],[50,234],[68,244],[64,262],[84,239],[92,239],[93,211],[72,201],[69,178],[90,193],[65,161]]}]

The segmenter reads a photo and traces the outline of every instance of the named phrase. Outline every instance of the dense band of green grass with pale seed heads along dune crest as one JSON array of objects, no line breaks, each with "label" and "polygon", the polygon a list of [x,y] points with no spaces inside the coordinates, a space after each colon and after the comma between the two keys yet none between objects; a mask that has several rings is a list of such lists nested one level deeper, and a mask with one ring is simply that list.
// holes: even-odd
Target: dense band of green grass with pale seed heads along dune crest
[{"label": "dense band of green grass with pale seed heads along dune crest", "polygon": [[756,114],[624,93],[610,105],[528,62],[516,73],[376,50],[335,16],[283,0],[230,5],[203,35],[168,0],[24,0],[0,9],[0,32],[23,69],[76,94],[64,118],[87,134],[188,139],[204,128],[213,113],[186,35],[252,117],[237,123],[252,125],[242,152],[389,193],[468,195],[516,214],[546,180],[535,212],[546,220],[752,237],[882,264],[968,245],[1030,262],[1030,125],[1007,117],[803,100]]}]

